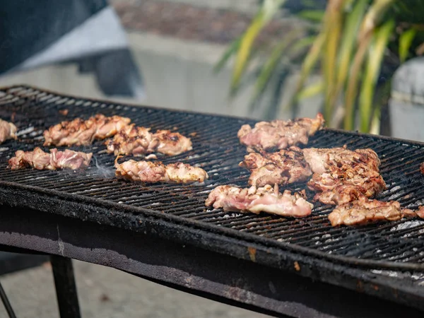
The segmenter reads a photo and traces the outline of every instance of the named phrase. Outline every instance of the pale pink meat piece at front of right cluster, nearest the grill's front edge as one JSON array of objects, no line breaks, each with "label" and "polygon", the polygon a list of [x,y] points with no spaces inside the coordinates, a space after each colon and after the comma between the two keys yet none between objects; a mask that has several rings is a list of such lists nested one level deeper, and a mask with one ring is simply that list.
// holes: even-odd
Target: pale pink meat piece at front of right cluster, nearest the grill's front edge
[{"label": "pale pink meat piece at front of right cluster, nearest the grill's front edge", "polygon": [[249,211],[252,213],[266,212],[278,216],[303,218],[309,216],[312,204],[304,198],[305,194],[285,190],[278,192],[278,186],[250,187],[242,189],[228,185],[216,187],[206,199],[206,206],[223,208],[224,211]]}]

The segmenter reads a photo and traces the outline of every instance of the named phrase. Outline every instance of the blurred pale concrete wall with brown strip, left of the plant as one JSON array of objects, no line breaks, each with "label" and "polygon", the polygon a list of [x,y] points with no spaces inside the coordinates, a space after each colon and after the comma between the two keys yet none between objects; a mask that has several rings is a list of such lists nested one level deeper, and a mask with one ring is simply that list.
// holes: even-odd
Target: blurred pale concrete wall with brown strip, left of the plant
[{"label": "blurred pale concrete wall with brown strip, left of the plant", "polygon": [[[292,8],[299,10],[296,8],[298,1],[292,2]],[[325,1],[315,2],[322,4]],[[265,116],[264,110],[252,111],[249,108],[253,81],[246,83],[247,87],[230,98],[231,64],[225,64],[218,72],[214,71],[232,41],[248,28],[261,1],[111,0],[109,4],[125,30],[134,66],[139,70],[143,86],[140,95],[130,97],[105,94],[99,88],[98,75],[85,67],[86,57],[76,62],[45,61],[47,65],[41,63],[29,69],[12,70],[0,77],[0,86],[27,83],[91,98],[112,98],[242,117]],[[296,19],[295,23],[293,19]],[[280,41],[298,24],[297,19],[288,9],[281,9],[264,26],[258,45]],[[101,23],[108,24],[110,20]],[[107,37],[108,33],[105,31],[98,36]],[[81,37],[78,40],[81,41]],[[110,45],[111,51],[116,49],[113,45]],[[108,67],[119,69],[121,64],[111,62]],[[287,81],[280,95],[288,95],[290,90],[293,90],[293,85]],[[309,103],[311,107],[316,104],[314,100]],[[311,115],[314,113],[316,110],[307,112]],[[288,116],[285,113],[281,115]]]}]

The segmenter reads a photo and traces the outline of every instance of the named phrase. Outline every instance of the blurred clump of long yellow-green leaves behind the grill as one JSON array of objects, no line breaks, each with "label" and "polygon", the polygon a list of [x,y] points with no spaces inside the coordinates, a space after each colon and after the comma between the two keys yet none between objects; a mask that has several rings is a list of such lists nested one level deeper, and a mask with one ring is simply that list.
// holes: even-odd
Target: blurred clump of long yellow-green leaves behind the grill
[{"label": "blurred clump of long yellow-green leaves behind the grill", "polygon": [[[301,2],[294,13],[300,19],[298,25],[265,50],[255,47],[255,40],[281,14],[281,8],[290,8],[290,1],[261,1],[252,23],[216,66],[218,71],[235,58],[230,95],[237,94],[253,76],[251,107],[261,105],[271,91],[266,110],[269,119],[276,116],[278,107],[290,107],[295,116],[302,98],[322,94],[329,126],[378,132],[379,100],[387,100],[378,93],[379,83],[391,78],[401,63],[424,54],[424,1],[328,0],[325,8],[322,1]],[[288,105],[281,105],[278,96],[297,64],[300,76],[295,92]],[[312,73],[319,73],[321,80],[305,86]],[[381,91],[387,94],[387,85]],[[336,113],[342,115],[336,117]]]}]

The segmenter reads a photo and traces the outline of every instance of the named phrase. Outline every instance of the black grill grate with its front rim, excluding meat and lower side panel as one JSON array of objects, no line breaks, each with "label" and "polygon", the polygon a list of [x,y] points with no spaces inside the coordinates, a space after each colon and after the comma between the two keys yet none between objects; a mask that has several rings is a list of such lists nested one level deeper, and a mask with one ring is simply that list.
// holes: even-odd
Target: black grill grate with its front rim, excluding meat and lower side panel
[{"label": "black grill grate with its front rim, excluding meat and lower side panel", "polygon": [[[69,112],[65,116],[60,110]],[[119,114],[152,130],[175,129],[190,136],[192,151],[175,157],[158,155],[158,159],[202,167],[210,179],[192,185],[114,179],[114,158],[105,153],[101,141],[89,147],[73,147],[93,152],[88,170],[6,169],[8,158],[18,149],[28,151],[40,146],[46,150],[42,132],[48,126],[96,113]],[[379,280],[380,288],[367,292],[424,309],[420,288],[424,283],[424,220],[332,228],[327,218],[331,208],[320,204],[315,204],[312,216],[303,219],[224,213],[204,206],[208,193],[220,184],[247,185],[249,172],[238,167],[246,152],[237,131],[242,124],[254,124],[254,120],[73,98],[27,86],[0,89],[0,117],[15,122],[20,139],[0,146],[3,204],[149,232],[349,288],[358,286],[339,281],[334,273],[343,276],[355,269],[355,275],[363,275],[364,280],[365,276]],[[324,129],[307,146],[345,144],[349,149],[372,148],[379,155],[388,187],[378,199],[399,200],[408,208],[423,204],[424,177],[419,170],[424,161],[423,143]],[[305,184],[293,184],[288,189],[305,189]]]}]

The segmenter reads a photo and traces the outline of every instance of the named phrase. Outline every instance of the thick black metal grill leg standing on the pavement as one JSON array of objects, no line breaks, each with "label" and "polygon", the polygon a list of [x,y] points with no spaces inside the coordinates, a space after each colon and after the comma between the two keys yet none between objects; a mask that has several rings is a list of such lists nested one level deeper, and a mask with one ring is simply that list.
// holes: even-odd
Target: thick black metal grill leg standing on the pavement
[{"label": "thick black metal grill leg standing on the pavement", "polygon": [[81,318],[71,259],[50,256],[61,318]]}]

